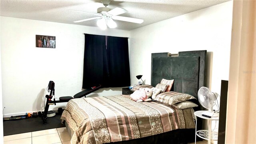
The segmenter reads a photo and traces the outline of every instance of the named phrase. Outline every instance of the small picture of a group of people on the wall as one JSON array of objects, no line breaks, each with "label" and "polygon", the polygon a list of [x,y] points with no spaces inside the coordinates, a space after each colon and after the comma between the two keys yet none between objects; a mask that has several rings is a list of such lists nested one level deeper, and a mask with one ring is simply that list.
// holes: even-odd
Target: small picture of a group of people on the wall
[{"label": "small picture of a group of people on the wall", "polygon": [[55,36],[36,35],[36,47],[38,47],[38,48],[56,48]]}]

